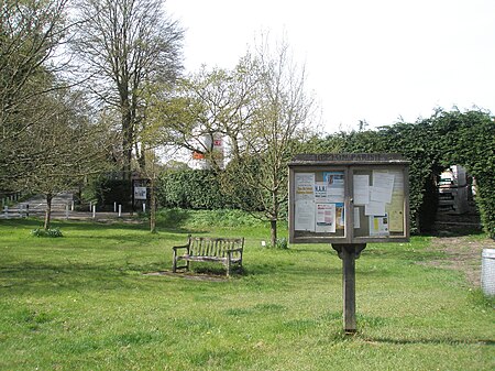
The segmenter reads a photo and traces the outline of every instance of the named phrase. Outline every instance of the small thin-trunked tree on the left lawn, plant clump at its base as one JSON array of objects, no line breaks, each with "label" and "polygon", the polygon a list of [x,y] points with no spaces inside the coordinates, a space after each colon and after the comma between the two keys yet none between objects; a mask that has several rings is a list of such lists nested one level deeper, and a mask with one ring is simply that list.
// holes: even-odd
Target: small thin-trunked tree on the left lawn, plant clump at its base
[{"label": "small thin-trunked tree on the left lawn, plant clump at its base", "polygon": [[30,163],[29,175],[18,178],[15,185],[45,195],[44,228],[48,229],[52,198],[85,176],[108,170],[112,138],[105,124],[91,122],[79,91],[57,89],[43,96],[43,107],[50,114],[28,133],[37,155]]}]

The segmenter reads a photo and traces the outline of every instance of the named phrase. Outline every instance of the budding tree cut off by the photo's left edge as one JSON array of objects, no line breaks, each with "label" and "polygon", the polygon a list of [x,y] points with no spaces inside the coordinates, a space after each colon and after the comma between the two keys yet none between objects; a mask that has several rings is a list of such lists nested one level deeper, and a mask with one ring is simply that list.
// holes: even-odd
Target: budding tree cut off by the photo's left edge
[{"label": "budding tree cut off by the photo's left edge", "polygon": [[61,87],[50,61],[67,32],[66,6],[0,1],[0,187],[11,188],[41,157],[30,133],[50,114],[44,97]]}]

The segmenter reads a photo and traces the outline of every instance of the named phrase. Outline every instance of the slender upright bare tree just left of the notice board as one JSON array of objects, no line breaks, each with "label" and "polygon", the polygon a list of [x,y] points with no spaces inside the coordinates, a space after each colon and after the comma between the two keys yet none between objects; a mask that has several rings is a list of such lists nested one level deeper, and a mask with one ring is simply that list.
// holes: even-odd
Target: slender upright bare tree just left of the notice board
[{"label": "slender upright bare tree just left of the notice board", "polygon": [[[287,163],[298,143],[311,132],[308,120],[314,100],[306,92],[306,73],[292,61],[286,42],[275,53],[258,45],[252,66],[257,78],[250,102],[253,116],[243,128],[244,142],[239,161],[230,167],[224,185],[241,207],[251,205],[271,222],[272,245],[277,242],[277,221],[285,214],[288,197]],[[230,187],[238,179],[250,197]]]}]

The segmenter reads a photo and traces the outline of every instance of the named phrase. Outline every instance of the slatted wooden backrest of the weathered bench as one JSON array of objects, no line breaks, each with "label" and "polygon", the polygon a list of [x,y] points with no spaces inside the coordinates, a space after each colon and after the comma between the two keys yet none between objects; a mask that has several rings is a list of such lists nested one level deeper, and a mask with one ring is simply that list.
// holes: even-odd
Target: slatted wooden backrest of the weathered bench
[{"label": "slatted wooden backrest of the weathered bench", "polygon": [[[227,251],[244,247],[244,238],[189,237],[189,255],[226,258]],[[240,253],[235,253],[238,258]]]}]

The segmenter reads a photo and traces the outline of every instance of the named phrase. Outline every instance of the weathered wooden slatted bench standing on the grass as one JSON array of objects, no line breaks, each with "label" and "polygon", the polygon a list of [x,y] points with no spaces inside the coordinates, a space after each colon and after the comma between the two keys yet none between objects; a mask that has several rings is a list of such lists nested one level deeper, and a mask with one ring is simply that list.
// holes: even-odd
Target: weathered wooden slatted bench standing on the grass
[{"label": "weathered wooden slatted bench standing on the grass", "polygon": [[[230,275],[232,264],[242,268],[242,252],[244,250],[244,238],[212,238],[191,237],[187,244],[173,247],[172,272],[177,269],[189,270],[189,262],[221,262]],[[179,254],[179,251],[184,253]],[[177,266],[179,260],[186,261],[186,265]]]}]

